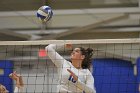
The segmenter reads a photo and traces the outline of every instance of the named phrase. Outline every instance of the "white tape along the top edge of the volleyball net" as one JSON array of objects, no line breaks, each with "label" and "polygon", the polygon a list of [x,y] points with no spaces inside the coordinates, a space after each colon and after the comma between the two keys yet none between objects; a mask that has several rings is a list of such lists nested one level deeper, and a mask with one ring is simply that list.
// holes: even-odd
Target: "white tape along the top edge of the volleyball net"
[{"label": "white tape along the top edge of the volleyball net", "polygon": [[0,45],[46,45],[46,44],[109,44],[140,43],[140,39],[88,39],[88,40],[38,40],[38,41],[0,41]]}]

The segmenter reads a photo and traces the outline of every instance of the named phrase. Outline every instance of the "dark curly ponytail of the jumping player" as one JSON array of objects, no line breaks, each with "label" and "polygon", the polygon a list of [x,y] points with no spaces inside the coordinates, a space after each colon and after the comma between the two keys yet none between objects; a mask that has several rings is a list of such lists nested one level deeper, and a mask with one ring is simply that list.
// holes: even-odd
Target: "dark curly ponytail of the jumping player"
[{"label": "dark curly ponytail of the jumping player", "polygon": [[84,49],[84,48],[80,47],[80,50],[82,52],[82,55],[85,55],[85,58],[84,58],[81,66],[83,69],[89,69],[90,64],[91,64],[91,58],[93,55],[93,49],[91,49],[91,48]]}]

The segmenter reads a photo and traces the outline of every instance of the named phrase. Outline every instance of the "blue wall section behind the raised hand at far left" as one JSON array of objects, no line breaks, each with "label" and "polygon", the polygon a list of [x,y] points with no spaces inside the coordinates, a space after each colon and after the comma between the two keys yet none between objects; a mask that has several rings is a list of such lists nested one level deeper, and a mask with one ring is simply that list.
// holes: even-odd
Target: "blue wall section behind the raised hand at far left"
[{"label": "blue wall section behind the raised hand at far left", "polygon": [[13,93],[13,81],[9,78],[9,74],[13,72],[13,62],[0,60],[0,69],[4,70],[4,74],[0,74],[0,84],[6,86],[9,93]]}]

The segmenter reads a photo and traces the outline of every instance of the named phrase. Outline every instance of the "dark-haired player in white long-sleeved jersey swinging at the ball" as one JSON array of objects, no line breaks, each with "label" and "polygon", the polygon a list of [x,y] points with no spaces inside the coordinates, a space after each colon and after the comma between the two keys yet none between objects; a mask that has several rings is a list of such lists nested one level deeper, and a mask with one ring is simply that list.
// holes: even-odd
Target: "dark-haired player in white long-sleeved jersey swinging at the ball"
[{"label": "dark-haired player in white long-sleeved jersey swinging at the ball", "polygon": [[[94,78],[89,71],[93,50],[82,47],[75,48],[71,53],[71,62],[65,60],[56,49],[66,45],[50,44],[46,46],[48,57],[58,68],[58,93],[96,93]],[[64,48],[64,47],[63,47]]]}]

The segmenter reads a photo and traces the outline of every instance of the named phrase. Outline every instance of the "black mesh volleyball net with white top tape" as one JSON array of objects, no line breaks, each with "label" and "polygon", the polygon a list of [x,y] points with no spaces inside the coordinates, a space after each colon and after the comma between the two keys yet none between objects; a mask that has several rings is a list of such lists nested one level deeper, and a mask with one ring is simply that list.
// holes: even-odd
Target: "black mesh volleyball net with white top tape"
[{"label": "black mesh volleyball net with white top tape", "polygon": [[[23,77],[23,92],[55,93],[57,68],[45,52],[48,44],[93,48],[91,72],[97,93],[138,91],[140,39],[0,41],[0,83],[10,90],[15,84],[8,74],[17,71]],[[70,60],[71,51],[62,49],[58,52]]]}]

